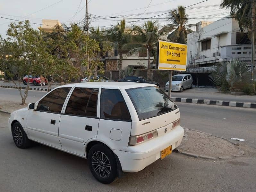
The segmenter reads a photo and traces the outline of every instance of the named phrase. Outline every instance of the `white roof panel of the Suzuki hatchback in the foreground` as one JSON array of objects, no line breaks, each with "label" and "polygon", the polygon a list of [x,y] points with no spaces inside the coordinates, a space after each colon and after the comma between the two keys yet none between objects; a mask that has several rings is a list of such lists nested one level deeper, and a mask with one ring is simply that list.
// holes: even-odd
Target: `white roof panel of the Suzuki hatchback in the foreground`
[{"label": "white roof panel of the Suzuki hatchback in the foreground", "polygon": [[74,83],[74,84],[66,84],[58,86],[57,88],[61,87],[73,87],[75,85],[79,85],[79,87],[87,87],[90,86],[102,86],[102,88],[108,89],[131,89],[131,88],[138,88],[138,87],[149,87],[149,86],[156,86],[154,84],[147,84],[147,83],[133,83],[133,82],[86,82],[86,83]]}]

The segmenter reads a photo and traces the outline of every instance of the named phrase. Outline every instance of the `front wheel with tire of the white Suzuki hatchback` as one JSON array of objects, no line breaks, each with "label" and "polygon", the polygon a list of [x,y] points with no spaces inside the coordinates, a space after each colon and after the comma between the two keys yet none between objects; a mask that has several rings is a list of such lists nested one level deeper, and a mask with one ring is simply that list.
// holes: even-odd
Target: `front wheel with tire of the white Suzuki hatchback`
[{"label": "front wheel with tire of the white Suzuki hatchback", "polygon": [[30,146],[30,140],[19,122],[12,126],[13,141],[18,148],[27,148]]}]

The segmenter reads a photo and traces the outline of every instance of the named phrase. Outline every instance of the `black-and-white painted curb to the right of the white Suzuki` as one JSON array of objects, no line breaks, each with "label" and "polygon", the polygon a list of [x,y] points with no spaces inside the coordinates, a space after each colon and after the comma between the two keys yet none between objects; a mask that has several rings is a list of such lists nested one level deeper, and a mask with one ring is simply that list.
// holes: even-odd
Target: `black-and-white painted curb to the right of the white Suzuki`
[{"label": "black-and-white painted curb to the right of the white Suzuki", "polygon": [[209,99],[191,99],[191,98],[180,98],[180,97],[172,97],[172,100],[175,102],[182,102],[182,103],[198,103],[198,104],[205,104],[205,105],[256,108],[256,103],[247,103],[247,102],[220,101],[220,100],[209,100]]}]

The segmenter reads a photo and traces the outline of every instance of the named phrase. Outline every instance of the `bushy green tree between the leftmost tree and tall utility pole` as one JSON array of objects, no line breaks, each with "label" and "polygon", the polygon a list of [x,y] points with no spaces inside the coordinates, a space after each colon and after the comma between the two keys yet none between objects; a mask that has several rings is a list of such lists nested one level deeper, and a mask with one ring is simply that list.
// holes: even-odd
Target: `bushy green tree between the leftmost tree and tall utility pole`
[{"label": "bushy green tree between the leftmost tree and tall utility pole", "polygon": [[69,56],[69,43],[67,36],[62,32],[59,25],[55,26],[52,33],[44,33],[44,52],[38,55],[39,67],[42,75],[47,78],[48,92],[55,81],[68,83],[72,78],[78,77],[78,70],[73,64],[73,59]]}]

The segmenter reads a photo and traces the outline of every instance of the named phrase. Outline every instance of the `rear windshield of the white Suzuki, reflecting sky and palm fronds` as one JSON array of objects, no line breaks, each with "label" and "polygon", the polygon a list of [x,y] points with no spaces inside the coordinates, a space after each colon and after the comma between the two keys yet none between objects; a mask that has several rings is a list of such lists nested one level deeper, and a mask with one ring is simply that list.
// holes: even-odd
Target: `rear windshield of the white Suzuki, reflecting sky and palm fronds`
[{"label": "rear windshield of the white Suzuki, reflecting sky and palm fronds", "polygon": [[127,89],[139,120],[168,113],[177,108],[175,103],[157,86]]}]

